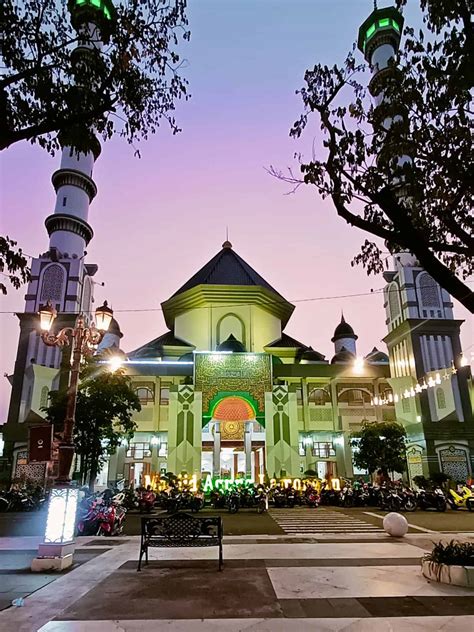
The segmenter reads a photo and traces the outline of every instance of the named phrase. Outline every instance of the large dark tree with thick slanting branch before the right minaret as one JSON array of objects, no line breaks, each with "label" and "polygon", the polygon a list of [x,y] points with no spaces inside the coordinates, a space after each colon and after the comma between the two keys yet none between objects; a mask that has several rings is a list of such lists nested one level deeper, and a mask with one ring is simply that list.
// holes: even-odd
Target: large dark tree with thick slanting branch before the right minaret
[{"label": "large dark tree with thick slanting branch before the right minaret", "polygon": [[[291,169],[270,173],[295,188],[316,187],[348,224],[378,238],[365,240],[353,264],[378,273],[382,243],[391,253],[409,251],[474,312],[474,293],[464,283],[474,271],[472,0],[420,4],[425,31],[406,28],[398,58],[371,85],[373,94],[383,93],[380,104],[364,87],[366,67],[354,50],[342,67],[319,64],[306,72],[305,112],[290,135],[300,137],[316,115],[325,157],[300,157],[301,177]],[[384,120],[394,115],[387,129]],[[400,164],[404,155],[411,160]]]}]

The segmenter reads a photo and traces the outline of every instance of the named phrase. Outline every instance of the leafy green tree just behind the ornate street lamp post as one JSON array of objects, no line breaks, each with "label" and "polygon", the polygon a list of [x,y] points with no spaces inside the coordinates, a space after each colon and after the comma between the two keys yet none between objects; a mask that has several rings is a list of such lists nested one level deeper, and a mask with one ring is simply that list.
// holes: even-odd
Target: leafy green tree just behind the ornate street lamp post
[{"label": "leafy green tree just behind the ornate street lamp post", "polygon": [[[77,393],[74,445],[81,457],[82,482],[91,489],[106,459],[114,454],[123,440],[130,440],[136,430],[133,411],[140,411],[140,401],[122,369],[111,372],[100,358],[88,359],[81,371]],[[50,393],[49,406],[42,409],[46,418],[60,428],[66,410],[66,393]]]}]

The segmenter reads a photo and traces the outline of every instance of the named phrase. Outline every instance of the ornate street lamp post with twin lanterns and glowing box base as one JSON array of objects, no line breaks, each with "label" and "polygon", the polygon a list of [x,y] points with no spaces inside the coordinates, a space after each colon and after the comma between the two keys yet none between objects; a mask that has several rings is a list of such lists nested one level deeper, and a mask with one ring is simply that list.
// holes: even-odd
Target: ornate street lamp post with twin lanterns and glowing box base
[{"label": "ornate street lamp post with twin lanterns and glowing box base", "polygon": [[72,344],[71,378],[67,390],[66,415],[58,450],[58,476],[51,490],[44,542],[32,561],[33,571],[64,570],[72,564],[77,489],[71,487],[71,466],[74,458],[74,423],[76,413],[79,368],[84,355],[94,353],[112,321],[113,311],[105,302],[95,312],[96,325],[86,326],[84,316],[76,318],[74,327],[64,327],[57,334],[51,326],[57,312],[48,301],[39,310],[41,338],[52,347]]}]

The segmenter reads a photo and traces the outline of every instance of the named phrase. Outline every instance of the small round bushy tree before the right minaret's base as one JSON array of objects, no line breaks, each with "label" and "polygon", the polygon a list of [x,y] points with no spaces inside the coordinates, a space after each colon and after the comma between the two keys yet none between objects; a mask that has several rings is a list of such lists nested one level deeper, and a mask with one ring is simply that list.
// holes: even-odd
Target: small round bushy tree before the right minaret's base
[{"label": "small round bushy tree before the right minaret's base", "polygon": [[362,430],[351,435],[354,465],[370,474],[381,469],[388,472],[406,470],[406,432],[392,421],[362,424]]}]

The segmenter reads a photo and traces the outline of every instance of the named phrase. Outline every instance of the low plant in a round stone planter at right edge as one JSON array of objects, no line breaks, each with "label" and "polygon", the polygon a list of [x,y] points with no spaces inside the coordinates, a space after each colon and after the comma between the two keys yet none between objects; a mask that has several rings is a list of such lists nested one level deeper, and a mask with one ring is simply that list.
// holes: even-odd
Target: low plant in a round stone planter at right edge
[{"label": "low plant in a round stone planter at right edge", "polygon": [[474,542],[438,542],[421,560],[427,579],[474,588]]}]

